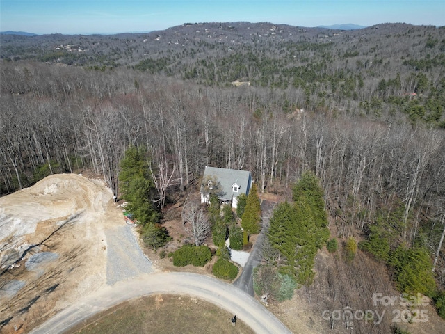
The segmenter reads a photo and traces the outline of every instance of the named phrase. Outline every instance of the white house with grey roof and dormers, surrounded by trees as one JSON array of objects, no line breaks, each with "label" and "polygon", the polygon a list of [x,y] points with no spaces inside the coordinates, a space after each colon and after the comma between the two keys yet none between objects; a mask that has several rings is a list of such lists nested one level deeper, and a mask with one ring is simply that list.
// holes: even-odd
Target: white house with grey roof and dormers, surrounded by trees
[{"label": "white house with grey roof and dormers, surrounded by trees", "polygon": [[216,168],[206,166],[201,184],[201,202],[209,202],[211,193],[215,193],[220,202],[238,206],[238,196],[249,194],[252,186],[252,175],[247,170]]}]

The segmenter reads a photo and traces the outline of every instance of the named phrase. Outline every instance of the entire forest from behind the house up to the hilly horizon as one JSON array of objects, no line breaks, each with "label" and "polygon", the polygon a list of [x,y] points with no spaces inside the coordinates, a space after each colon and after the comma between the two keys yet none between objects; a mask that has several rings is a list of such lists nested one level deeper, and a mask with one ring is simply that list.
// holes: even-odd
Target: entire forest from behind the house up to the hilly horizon
[{"label": "entire forest from behind the house up to the hilly horizon", "polygon": [[1,35],[0,65],[2,194],[92,170],[119,196],[131,145],[149,152],[161,209],[204,166],[287,198],[311,170],[339,237],[382,261],[428,250],[445,287],[444,27]]}]

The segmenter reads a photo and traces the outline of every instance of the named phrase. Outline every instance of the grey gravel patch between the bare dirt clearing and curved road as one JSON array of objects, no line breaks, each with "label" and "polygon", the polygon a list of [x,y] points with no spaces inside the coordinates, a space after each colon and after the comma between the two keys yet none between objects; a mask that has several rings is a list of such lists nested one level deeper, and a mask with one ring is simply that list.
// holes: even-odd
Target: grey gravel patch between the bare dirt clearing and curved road
[{"label": "grey gravel patch between the bare dirt clearing and curved road", "polygon": [[130,225],[118,226],[105,232],[107,244],[106,284],[152,273],[152,262],[145,257]]}]

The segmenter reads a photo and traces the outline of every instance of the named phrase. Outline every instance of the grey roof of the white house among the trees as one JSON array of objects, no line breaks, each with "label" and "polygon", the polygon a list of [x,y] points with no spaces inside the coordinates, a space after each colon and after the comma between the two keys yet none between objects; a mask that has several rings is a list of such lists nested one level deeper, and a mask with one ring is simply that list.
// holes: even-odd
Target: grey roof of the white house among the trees
[{"label": "grey roof of the white house among the trees", "polygon": [[[241,193],[247,194],[250,186],[250,172],[247,170],[236,170],[228,168],[217,168],[206,166],[204,170],[204,178],[207,176],[215,176],[223,188],[223,195],[219,196],[221,200],[232,200],[238,197]],[[234,192],[232,186],[237,184],[239,186],[238,192]],[[202,192],[202,186],[201,186]]]}]

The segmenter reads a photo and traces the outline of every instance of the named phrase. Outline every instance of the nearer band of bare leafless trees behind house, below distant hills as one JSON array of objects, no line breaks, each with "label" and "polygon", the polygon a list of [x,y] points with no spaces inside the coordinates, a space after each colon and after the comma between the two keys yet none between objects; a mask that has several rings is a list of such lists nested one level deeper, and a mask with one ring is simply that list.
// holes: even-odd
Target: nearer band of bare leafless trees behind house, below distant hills
[{"label": "nearer band of bare leafless trees behind house, below distant hills", "polygon": [[3,194],[87,168],[118,194],[131,145],[152,157],[161,208],[204,166],[250,170],[260,192],[285,192],[313,170],[340,236],[367,235],[382,208],[400,207],[398,237],[429,250],[444,284],[442,129],[391,113],[301,111],[293,89],[212,88],[41,63],[2,63],[1,72]]}]

